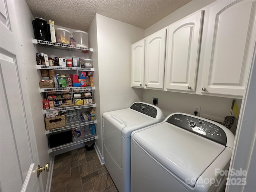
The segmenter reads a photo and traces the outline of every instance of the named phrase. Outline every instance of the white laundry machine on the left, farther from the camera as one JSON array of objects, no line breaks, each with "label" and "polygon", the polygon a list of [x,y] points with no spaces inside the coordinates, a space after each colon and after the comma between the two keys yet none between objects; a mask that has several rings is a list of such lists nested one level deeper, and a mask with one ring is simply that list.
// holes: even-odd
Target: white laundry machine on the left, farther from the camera
[{"label": "white laundry machine on the left, farther from the camera", "polygon": [[144,102],[103,113],[105,166],[120,192],[130,192],[131,133],[163,120],[160,108]]}]

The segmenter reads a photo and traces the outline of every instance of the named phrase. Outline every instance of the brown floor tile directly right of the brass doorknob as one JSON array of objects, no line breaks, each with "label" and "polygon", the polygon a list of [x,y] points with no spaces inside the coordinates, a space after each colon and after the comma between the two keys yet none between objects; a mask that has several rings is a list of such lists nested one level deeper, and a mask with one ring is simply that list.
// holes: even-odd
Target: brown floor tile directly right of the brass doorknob
[{"label": "brown floor tile directly right of the brass doorknob", "polygon": [[51,190],[55,190],[70,182],[71,182],[70,170],[67,170],[58,175],[52,176]]}]

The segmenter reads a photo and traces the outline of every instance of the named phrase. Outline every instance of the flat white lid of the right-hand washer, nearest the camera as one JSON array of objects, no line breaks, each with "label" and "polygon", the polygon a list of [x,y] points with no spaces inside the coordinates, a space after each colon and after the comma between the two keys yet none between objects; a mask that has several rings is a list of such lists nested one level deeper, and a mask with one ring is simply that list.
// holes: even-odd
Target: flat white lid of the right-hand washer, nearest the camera
[{"label": "flat white lid of the right-hand washer, nearest the camera", "polygon": [[138,130],[132,140],[191,186],[225,148],[168,122]]}]

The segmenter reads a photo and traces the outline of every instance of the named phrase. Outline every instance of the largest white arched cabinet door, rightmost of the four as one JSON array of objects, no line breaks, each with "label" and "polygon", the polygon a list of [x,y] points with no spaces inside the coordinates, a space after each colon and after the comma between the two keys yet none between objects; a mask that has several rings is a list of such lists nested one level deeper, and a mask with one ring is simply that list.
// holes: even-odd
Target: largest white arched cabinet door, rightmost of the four
[{"label": "largest white arched cabinet door, rightmost of the four", "polygon": [[255,43],[255,1],[221,1],[205,16],[201,92],[243,96]]}]

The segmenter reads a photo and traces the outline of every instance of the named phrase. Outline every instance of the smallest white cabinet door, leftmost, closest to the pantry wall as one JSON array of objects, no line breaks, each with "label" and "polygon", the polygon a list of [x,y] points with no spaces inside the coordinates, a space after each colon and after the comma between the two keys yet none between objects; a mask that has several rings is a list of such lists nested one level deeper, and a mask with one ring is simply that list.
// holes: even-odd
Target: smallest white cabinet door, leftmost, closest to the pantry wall
[{"label": "smallest white cabinet door, leftmost, closest to the pantry wall", "polygon": [[132,44],[132,86],[144,87],[145,40]]}]

